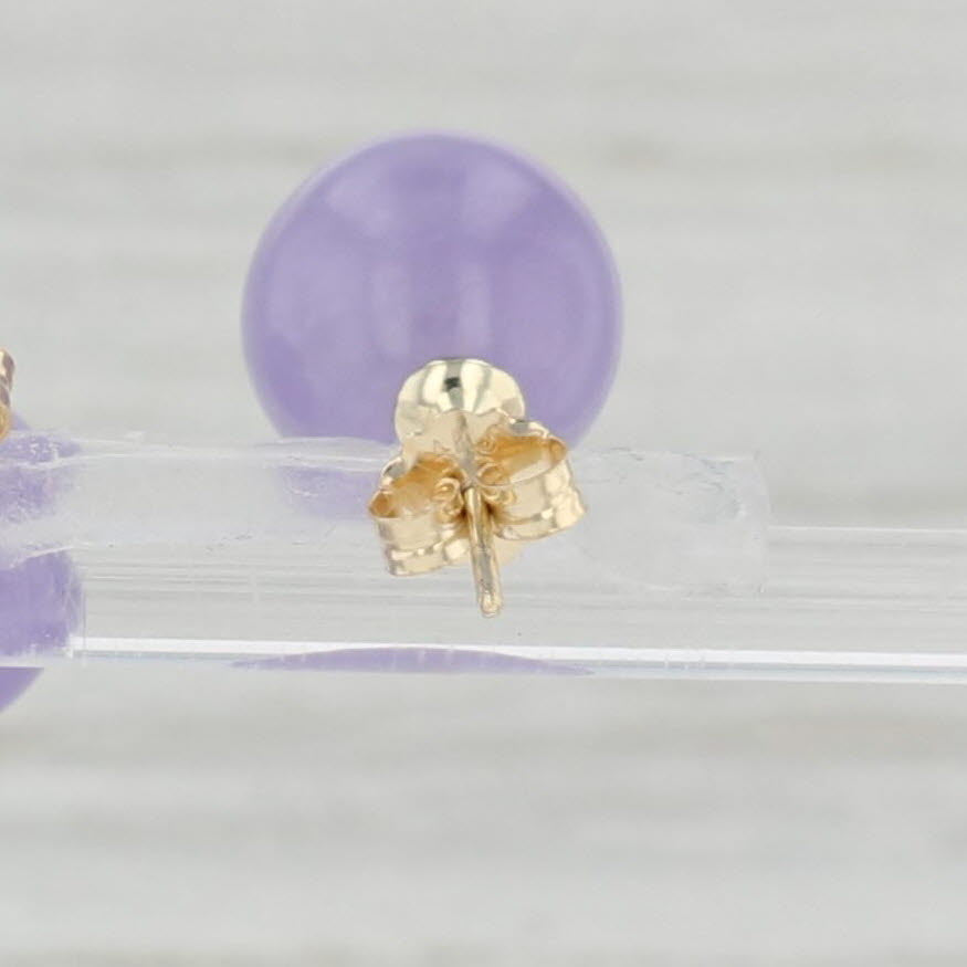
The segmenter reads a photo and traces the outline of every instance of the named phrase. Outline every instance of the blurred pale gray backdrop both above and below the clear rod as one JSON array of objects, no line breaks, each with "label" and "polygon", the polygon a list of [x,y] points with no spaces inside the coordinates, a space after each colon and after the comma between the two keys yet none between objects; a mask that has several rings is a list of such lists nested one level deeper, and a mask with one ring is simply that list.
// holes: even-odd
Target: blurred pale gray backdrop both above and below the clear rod
[{"label": "blurred pale gray backdrop both above and below the clear rod", "polygon": [[[784,522],[959,524],[967,9],[0,0],[0,306],[41,425],[253,439],[262,223],[388,130],[599,214],[599,443]],[[46,675],[0,721],[4,965],[947,965],[959,690]]]}]

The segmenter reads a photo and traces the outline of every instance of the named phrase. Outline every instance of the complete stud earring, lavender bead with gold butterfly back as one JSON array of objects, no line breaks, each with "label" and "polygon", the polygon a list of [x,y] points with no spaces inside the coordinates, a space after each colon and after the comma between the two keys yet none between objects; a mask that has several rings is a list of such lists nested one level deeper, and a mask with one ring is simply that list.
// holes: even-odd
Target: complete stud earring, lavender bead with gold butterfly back
[{"label": "complete stud earring, lavender bead with gold butterfly back", "polygon": [[561,439],[603,406],[620,329],[617,269],[578,198],[442,133],[312,176],[259,243],[242,318],[283,435],[399,441],[369,502],[390,571],[469,559],[484,614],[500,565],[584,513]]}]

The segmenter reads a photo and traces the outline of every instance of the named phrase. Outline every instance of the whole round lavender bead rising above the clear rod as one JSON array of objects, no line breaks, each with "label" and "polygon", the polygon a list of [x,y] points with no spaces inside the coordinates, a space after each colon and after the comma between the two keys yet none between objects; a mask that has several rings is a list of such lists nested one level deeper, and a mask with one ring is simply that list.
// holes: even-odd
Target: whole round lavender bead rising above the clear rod
[{"label": "whole round lavender bead rising above the clear rod", "polygon": [[390,442],[403,379],[476,356],[576,442],[605,402],[618,275],[582,204],[505,148],[417,134],[314,175],[276,213],[245,290],[249,369],[290,437]]}]

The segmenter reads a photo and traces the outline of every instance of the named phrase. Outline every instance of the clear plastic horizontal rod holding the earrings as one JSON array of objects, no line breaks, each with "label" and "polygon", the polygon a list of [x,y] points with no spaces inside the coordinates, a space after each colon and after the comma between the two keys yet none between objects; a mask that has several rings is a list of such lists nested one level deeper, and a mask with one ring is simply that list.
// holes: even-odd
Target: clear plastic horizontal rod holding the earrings
[{"label": "clear plastic horizontal rod holding the earrings", "polygon": [[588,516],[529,544],[505,569],[505,612],[484,620],[469,567],[385,571],[366,501],[388,455],[13,434],[4,608],[36,603],[24,568],[69,563],[43,607],[76,621],[8,635],[0,661],[967,680],[965,532],[770,527],[749,458],[579,451]]}]

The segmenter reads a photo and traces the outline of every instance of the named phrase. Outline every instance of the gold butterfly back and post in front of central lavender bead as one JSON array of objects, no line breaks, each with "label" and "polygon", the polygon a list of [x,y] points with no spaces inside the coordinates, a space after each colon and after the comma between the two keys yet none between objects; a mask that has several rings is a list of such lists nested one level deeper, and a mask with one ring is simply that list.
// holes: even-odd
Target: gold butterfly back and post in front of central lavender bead
[{"label": "gold butterfly back and post in front of central lavender bead", "polygon": [[469,557],[490,618],[503,605],[500,565],[521,542],[584,516],[567,446],[524,412],[513,377],[480,359],[435,359],[407,379],[395,416],[402,450],[369,502],[390,574]]}]

